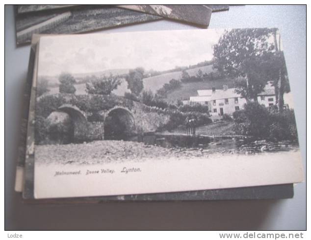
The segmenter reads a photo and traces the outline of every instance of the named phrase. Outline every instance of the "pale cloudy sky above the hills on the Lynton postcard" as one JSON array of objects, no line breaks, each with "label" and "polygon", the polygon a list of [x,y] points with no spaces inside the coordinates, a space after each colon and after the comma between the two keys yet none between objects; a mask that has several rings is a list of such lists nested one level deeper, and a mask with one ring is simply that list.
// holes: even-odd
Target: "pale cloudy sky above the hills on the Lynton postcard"
[{"label": "pale cloudy sky above the hills on the Lynton postcard", "polygon": [[38,76],[108,69],[168,70],[212,59],[222,29],[44,36]]}]

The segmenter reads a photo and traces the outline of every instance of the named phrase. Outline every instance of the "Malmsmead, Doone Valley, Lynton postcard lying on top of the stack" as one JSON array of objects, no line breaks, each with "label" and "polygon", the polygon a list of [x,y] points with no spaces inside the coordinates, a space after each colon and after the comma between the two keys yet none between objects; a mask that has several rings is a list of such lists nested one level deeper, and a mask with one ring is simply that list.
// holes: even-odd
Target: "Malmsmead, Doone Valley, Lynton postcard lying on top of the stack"
[{"label": "Malmsmead, Doone Valley, Lynton postcard lying on top of the stack", "polygon": [[35,198],[303,180],[277,29],[42,37],[35,120]]}]

